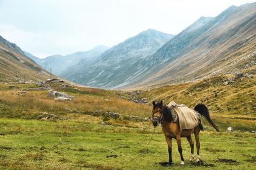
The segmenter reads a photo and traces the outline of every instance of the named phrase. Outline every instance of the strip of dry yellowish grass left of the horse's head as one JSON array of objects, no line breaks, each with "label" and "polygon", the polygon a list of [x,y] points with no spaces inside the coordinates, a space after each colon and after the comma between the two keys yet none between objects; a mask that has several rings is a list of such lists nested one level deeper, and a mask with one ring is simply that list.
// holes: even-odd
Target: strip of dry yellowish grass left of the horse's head
[{"label": "strip of dry yellowish grass left of the horse's head", "polygon": [[[95,111],[118,112],[122,115],[149,116],[150,108],[122,99],[115,94],[90,95],[90,94],[67,94],[74,96],[72,102],[56,102],[47,97],[47,91],[28,91],[20,94],[17,90],[0,91],[0,101],[4,104],[5,113],[10,117],[19,115],[38,115],[48,112],[65,115],[67,113],[93,113]],[[148,115],[149,113],[149,115]],[[3,113],[4,114],[4,113]]]}]

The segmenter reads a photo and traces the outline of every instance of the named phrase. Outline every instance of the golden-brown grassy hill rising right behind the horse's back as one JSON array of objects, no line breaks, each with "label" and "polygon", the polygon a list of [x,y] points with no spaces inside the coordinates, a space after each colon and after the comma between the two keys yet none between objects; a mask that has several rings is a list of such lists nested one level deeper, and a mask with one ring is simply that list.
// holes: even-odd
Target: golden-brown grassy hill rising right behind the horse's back
[{"label": "golden-brown grassy hill rising right behind the horse's back", "polygon": [[203,103],[217,124],[225,130],[235,127],[237,130],[256,129],[256,78],[235,78],[235,76],[214,76],[204,80],[166,85],[145,90],[136,99],[147,98],[184,103],[190,108]]}]

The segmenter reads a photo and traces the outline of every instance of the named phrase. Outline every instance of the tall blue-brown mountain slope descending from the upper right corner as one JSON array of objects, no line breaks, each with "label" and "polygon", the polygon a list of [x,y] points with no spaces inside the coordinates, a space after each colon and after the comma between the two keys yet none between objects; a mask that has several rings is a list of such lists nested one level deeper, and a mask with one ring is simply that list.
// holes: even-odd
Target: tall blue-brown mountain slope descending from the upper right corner
[{"label": "tall blue-brown mountain slope descending from the upper right corner", "polygon": [[256,3],[230,6],[214,18],[200,18],[154,55],[141,61],[149,69],[127,87],[195,80],[255,51]]}]

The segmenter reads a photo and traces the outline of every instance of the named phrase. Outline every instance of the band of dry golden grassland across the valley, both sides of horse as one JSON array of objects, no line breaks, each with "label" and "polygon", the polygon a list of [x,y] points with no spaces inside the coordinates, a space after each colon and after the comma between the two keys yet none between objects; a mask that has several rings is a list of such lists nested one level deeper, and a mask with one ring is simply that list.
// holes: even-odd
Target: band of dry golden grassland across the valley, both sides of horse
[{"label": "band of dry golden grassland across the valley, both sides of horse", "polygon": [[[204,103],[216,124],[225,131],[233,127],[240,131],[255,131],[256,78],[215,76],[205,80],[166,85],[151,90],[123,92],[76,87],[65,83],[49,84],[52,89],[74,96],[72,102],[56,102],[47,97],[47,90],[36,90],[35,84],[0,85],[0,111],[4,118],[36,119],[45,114],[63,118],[80,115],[104,117],[106,112],[120,113],[122,118],[108,120],[108,124],[129,124],[129,117],[151,117],[152,100],[184,103],[190,108]],[[133,97],[131,99],[131,97]],[[134,100],[147,98],[147,104]],[[136,118],[135,118],[136,120]],[[205,126],[209,126],[204,122]]]}]

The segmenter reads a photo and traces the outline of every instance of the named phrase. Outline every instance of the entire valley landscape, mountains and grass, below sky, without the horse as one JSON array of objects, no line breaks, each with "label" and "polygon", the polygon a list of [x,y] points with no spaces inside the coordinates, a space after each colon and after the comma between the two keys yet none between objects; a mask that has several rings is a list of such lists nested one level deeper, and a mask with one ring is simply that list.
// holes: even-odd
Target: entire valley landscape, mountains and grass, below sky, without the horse
[{"label": "entire valley landscape, mountains and grass, below sky, without the horse", "polygon": [[[177,35],[44,59],[0,36],[0,169],[255,169],[255,23],[256,3],[230,6]],[[207,106],[220,132],[202,118],[200,163],[182,138],[185,166],[173,139],[163,167],[153,101]]]}]

